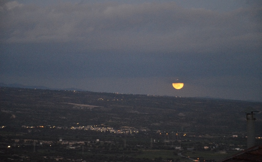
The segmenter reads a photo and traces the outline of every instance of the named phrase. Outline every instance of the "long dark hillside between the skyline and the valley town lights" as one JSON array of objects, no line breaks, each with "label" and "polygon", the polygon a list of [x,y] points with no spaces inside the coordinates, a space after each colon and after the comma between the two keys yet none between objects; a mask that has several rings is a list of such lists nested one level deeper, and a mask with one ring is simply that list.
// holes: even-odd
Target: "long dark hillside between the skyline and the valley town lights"
[{"label": "long dark hillside between the skyline and the valley town lights", "polygon": [[[262,111],[262,103],[238,100],[7,87],[0,90],[1,123],[7,126],[81,123],[230,134],[246,131],[245,114],[241,113],[244,108],[252,106]],[[256,117],[257,133],[261,133],[261,113]]]}]

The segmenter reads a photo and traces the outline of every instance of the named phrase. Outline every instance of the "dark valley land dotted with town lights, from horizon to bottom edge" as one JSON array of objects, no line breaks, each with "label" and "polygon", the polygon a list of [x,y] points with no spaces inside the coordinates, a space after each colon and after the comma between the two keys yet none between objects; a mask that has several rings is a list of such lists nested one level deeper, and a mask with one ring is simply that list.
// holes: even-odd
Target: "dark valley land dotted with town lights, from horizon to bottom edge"
[{"label": "dark valley land dotted with town lights, from horizon to bottom edge", "polygon": [[262,111],[261,102],[1,87],[0,161],[217,161],[246,149],[248,106]]}]

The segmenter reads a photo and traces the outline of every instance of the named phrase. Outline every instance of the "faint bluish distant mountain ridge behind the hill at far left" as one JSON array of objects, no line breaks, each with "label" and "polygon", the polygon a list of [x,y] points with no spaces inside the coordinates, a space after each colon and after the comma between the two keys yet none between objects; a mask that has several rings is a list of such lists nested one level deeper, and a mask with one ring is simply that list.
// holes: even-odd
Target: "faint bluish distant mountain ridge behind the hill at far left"
[{"label": "faint bluish distant mountain ridge behind the hill at far left", "polygon": [[13,83],[13,84],[5,84],[5,83],[0,83],[1,87],[14,87],[14,88],[27,88],[27,89],[50,89],[50,90],[76,90],[76,91],[87,91],[84,89],[77,89],[77,88],[49,88],[45,86],[25,86],[23,84],[18,84],[18,83]]}]

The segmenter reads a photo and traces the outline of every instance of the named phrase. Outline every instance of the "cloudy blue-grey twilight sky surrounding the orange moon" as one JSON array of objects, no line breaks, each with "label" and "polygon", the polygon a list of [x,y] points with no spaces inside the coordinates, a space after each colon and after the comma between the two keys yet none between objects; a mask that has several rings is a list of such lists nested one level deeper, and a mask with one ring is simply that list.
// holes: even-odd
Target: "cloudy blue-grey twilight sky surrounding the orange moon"
[{"label": "cloudy blue-grey twilight sky surrounding the orange moon", "polygon": [[262,1],[2,0],[0,82],[262,101]]}]

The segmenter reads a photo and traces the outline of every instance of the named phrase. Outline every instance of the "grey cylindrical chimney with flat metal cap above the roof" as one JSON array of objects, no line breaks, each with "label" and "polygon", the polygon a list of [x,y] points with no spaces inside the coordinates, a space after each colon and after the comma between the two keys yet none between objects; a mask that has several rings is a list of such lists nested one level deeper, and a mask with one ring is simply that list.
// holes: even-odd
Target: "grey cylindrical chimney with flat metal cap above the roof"
[{"label": "grey cylindrical chimney with flat metal cap above the roof", "polygon": [[247,148],[255,146],[255,114],[259,112],[252,107],[247,107],[242,112],[246,113],[246,127],[247,127]]}]

